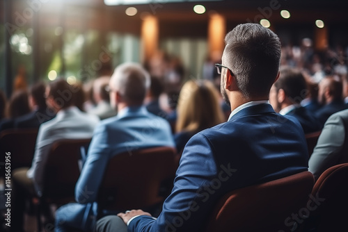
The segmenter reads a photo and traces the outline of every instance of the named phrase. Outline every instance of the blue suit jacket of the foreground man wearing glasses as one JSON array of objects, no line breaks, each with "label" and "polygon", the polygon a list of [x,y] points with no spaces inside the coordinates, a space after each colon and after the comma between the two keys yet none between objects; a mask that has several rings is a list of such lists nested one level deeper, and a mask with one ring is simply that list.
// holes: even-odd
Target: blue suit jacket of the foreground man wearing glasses
[{"label": "blue suit jacket of the foreground man wearing glasses", "polygon": [[299,122],[262,103],[193,135],[184,148],[161,215],[135,217],[128,231],[202,231],[223,194],[308,169]]}]

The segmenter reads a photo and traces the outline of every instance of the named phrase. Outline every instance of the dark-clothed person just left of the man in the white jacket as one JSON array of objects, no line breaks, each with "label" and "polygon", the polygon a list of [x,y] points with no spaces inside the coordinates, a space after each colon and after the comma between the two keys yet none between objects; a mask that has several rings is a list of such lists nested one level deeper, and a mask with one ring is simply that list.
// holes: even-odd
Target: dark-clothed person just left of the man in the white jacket
[{"label": "dark-clothed person just left of the man in the white jacket", "polygon": [[55,116],[54,111],[47,107],[45,91],[45,83],[40,82],[31,87],[29,95],[31,113],[18,117],[15,120],[15,128],[38,129],[40,124],[49,121]]}]

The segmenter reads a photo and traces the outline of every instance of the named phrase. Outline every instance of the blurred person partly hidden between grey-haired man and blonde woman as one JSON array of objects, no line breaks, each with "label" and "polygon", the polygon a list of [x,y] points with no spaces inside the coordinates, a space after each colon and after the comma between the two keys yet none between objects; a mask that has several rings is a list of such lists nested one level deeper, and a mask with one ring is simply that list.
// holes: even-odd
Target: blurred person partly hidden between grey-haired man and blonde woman
[{"label": "blurred person partly hidden between grey-haired man and blonde woman", "polygon": [[164,85],[159,77],[151,76],[151,86],[148,96],[145,98],[145,106],[148,112],[168,119],[166,111],[162,110],[159,105],[159,96],[164,90]]}]

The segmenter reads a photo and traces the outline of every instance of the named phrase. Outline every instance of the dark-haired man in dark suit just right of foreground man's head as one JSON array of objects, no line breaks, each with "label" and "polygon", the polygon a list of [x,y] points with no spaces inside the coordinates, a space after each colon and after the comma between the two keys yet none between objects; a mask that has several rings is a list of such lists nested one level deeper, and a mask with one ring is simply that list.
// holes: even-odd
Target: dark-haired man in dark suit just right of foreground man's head
[{"label": "dark-haired man in dark suit just right of foreground man's head", "polygon": [[313,133],[320,131],[322,126],[316,117],[301,106],[306,93],[307,85],[301,72],[285,67],[280,70],[280,76],[271,88],[269,101],[280,115],[295,117],[304,133]]}]

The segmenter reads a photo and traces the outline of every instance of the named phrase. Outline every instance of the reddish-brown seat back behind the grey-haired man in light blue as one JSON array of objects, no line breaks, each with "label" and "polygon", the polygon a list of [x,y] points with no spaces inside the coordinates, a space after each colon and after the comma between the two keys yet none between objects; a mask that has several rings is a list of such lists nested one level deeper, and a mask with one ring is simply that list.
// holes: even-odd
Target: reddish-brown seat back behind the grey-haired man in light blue
[{"label": "reddish-brown seat back behind the grey-haired man in light blue", "polygon": [[[155,147],[114,156],[98,192],[98,217],[103,210],[155,210],[173,187],[175,154],[172,147]],[[161,194],[162,188],[166,193]]]}]

